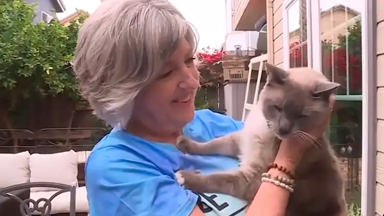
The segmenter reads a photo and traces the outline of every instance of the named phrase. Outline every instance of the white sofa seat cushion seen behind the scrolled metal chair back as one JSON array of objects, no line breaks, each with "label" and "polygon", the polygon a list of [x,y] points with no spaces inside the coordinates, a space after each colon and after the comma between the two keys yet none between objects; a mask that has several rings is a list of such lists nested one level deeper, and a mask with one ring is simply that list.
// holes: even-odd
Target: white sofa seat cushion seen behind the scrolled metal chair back
[{"label": "white sofa seat cushion seen behind the scrolled metal chair back", "polygon": [[[40,198],[49,199],[52,195],[54,195],[57,191],[38,191],[31,192],[30,198],[32,200],[38,200]],[[69,213],[70,212],[70,192],[62,193],[51,201],[52,208],[51,214],[58,213]],[[39,207],[44,205],[44,201],[39,203]],[[30,204],[32,207],[32,204]],[[77,213],[87,213],[88,212],[88,200],[87,200],[87,191],[84,187],[76,188],[76,212]],[[35,211],[32,213],[33,215],[40,215],[40,212]]]}]

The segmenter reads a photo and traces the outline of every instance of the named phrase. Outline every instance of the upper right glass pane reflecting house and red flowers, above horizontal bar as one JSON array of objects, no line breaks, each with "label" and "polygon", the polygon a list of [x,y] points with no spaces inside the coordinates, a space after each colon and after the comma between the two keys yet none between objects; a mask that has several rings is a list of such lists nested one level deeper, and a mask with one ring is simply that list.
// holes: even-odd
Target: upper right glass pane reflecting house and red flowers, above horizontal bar
[{"label": "upper right glass pane reflecting house and red flowers, above horizontal bar", "polygon": [[361,94],[361,14],[364,1],[320,1],[322,71],[339,95]]}]

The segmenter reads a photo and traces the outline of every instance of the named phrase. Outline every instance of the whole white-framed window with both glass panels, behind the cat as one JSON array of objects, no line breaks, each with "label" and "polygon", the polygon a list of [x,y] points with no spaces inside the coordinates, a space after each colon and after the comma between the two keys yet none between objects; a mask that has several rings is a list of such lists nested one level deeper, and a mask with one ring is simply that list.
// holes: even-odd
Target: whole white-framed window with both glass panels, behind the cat
[{"label": "whole white-framed window with both glass panels, behind the cat", "polygon": [[348,201],[359,200],[362,151],[361,11],[365,1],[285,0],[286,68],[311,67],[341,86],[329,139],[342,163]]}]

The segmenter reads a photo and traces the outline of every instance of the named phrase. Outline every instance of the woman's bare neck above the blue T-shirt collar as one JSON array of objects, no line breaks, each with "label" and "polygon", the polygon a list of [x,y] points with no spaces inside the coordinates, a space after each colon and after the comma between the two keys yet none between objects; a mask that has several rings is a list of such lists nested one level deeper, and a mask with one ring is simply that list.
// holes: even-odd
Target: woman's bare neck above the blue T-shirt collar
[{"label": "woman's bare neck above the blue T-shirt collar", "polygon": [[176,144],[177,137],[182,135],[182,129],[175,130],[173,132],[166,130],[154,130],[151,127],[147,127],[141,121],[135,119],[129,120],[126,131],[146,140],[171,144]]}]

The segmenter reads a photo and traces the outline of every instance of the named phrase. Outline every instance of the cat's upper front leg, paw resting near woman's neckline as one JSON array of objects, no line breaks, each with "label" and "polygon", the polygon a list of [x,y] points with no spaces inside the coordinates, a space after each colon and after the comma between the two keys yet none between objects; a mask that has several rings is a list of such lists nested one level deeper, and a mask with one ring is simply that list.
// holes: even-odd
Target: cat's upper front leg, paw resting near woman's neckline
[{"label": "cat's upper front leg, paw resting near woman's neckline", "polygon": [[206,143],[196,142],[188,137],[177,138],[176,145],[181,152],[194,155],[225,155],[238,157],[240,154],[240,132],[210,140]]}]

